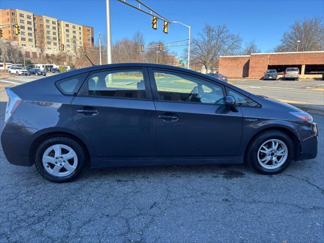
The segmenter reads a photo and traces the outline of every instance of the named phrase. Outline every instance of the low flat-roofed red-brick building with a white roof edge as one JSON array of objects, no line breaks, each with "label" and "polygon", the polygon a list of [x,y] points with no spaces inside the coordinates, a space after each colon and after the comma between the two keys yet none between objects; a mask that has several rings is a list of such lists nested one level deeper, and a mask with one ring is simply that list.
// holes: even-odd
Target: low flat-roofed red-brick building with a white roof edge
[{"label": "low flat-roofed red-brick building with a white roof edge", "polygon": [[247,56],[220,56],[219,73],[228,77],[262,78],[267,69],[276,69],[278,77],[287,67],[298,67],[301,78],[321,77],[324,52],[253,53]]}]

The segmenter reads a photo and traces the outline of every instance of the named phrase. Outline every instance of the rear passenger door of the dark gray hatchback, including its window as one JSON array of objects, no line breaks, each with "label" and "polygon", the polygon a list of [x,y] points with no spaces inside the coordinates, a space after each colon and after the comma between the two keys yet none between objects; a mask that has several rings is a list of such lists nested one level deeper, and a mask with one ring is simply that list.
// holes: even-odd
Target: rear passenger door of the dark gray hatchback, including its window
[{"label": "rear passenger door of the dark gray hatchback, including its window", "polygon": [[93,72],[71,103],[72,117],[98,157],[151,159],[155,148],[155,107],[146,68]]}]

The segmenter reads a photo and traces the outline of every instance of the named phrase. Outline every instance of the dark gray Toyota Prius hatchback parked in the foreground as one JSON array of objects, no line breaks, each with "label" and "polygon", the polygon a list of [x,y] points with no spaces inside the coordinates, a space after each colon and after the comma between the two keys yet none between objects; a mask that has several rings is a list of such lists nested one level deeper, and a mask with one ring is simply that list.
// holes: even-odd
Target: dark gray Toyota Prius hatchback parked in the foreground
[{"label": "dark gray Toyota Prius hatchback parked in the foreground", "polygon": [[13,165],[66,182],[85,167],[239,164],[262,174],[315,158],[308,113],[183,68],[123,63],[6,89]]}]

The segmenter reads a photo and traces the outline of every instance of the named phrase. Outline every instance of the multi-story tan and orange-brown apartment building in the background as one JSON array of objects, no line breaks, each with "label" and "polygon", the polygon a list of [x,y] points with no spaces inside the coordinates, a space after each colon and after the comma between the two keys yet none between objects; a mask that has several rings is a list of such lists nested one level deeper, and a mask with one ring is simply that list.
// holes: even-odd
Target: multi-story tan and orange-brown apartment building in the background
[{"label": "multi-story tan and orange-brown apartment building in the background", "polygon": [[[16,41],[25,47],[60,50],[61,44],[67,52],[94,45],[94,29],[54,17],[36,15],[19,9],[0,10],[0,24],[3,38]],[[20,33],[14,33],[13,25],[18,24]]]}]

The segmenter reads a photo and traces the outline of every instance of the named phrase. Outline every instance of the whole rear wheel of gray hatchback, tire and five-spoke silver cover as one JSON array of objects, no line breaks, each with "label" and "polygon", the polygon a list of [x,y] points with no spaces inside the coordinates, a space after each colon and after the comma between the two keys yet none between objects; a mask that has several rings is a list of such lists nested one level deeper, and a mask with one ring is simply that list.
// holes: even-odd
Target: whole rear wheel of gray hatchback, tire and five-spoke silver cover
[{"label": "whole rear wheel of gray hatchback, tire and five-spoke silver cover", "polygon": [[45,140],[35,153],[35,167],[49,181],[62,183],[74,180],[86,165],[83,147],[70,138]]}]

